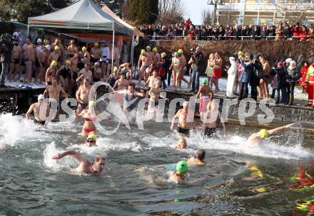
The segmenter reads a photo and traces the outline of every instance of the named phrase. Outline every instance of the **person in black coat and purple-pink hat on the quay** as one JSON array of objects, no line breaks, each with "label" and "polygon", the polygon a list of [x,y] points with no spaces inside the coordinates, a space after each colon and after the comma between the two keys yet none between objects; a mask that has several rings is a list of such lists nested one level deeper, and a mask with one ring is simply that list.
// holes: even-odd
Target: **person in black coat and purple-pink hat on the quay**
[{"label": "person in black coat and purple-pink hat on the quay", "polygon": [[276,104],[279,104],[280,101],[280,90],[282,94],[282,103],[285,103],[283,101],[283,95],[285,94],[285,68],[283,68],[283,62],[279,62],[277,64],[277,68],[275,70],[272,70],[271,75],[274,76],[273,78],[273,93],[271,94],[271,98],[275,98],[275,92],[277,92],[276,97]]}]

